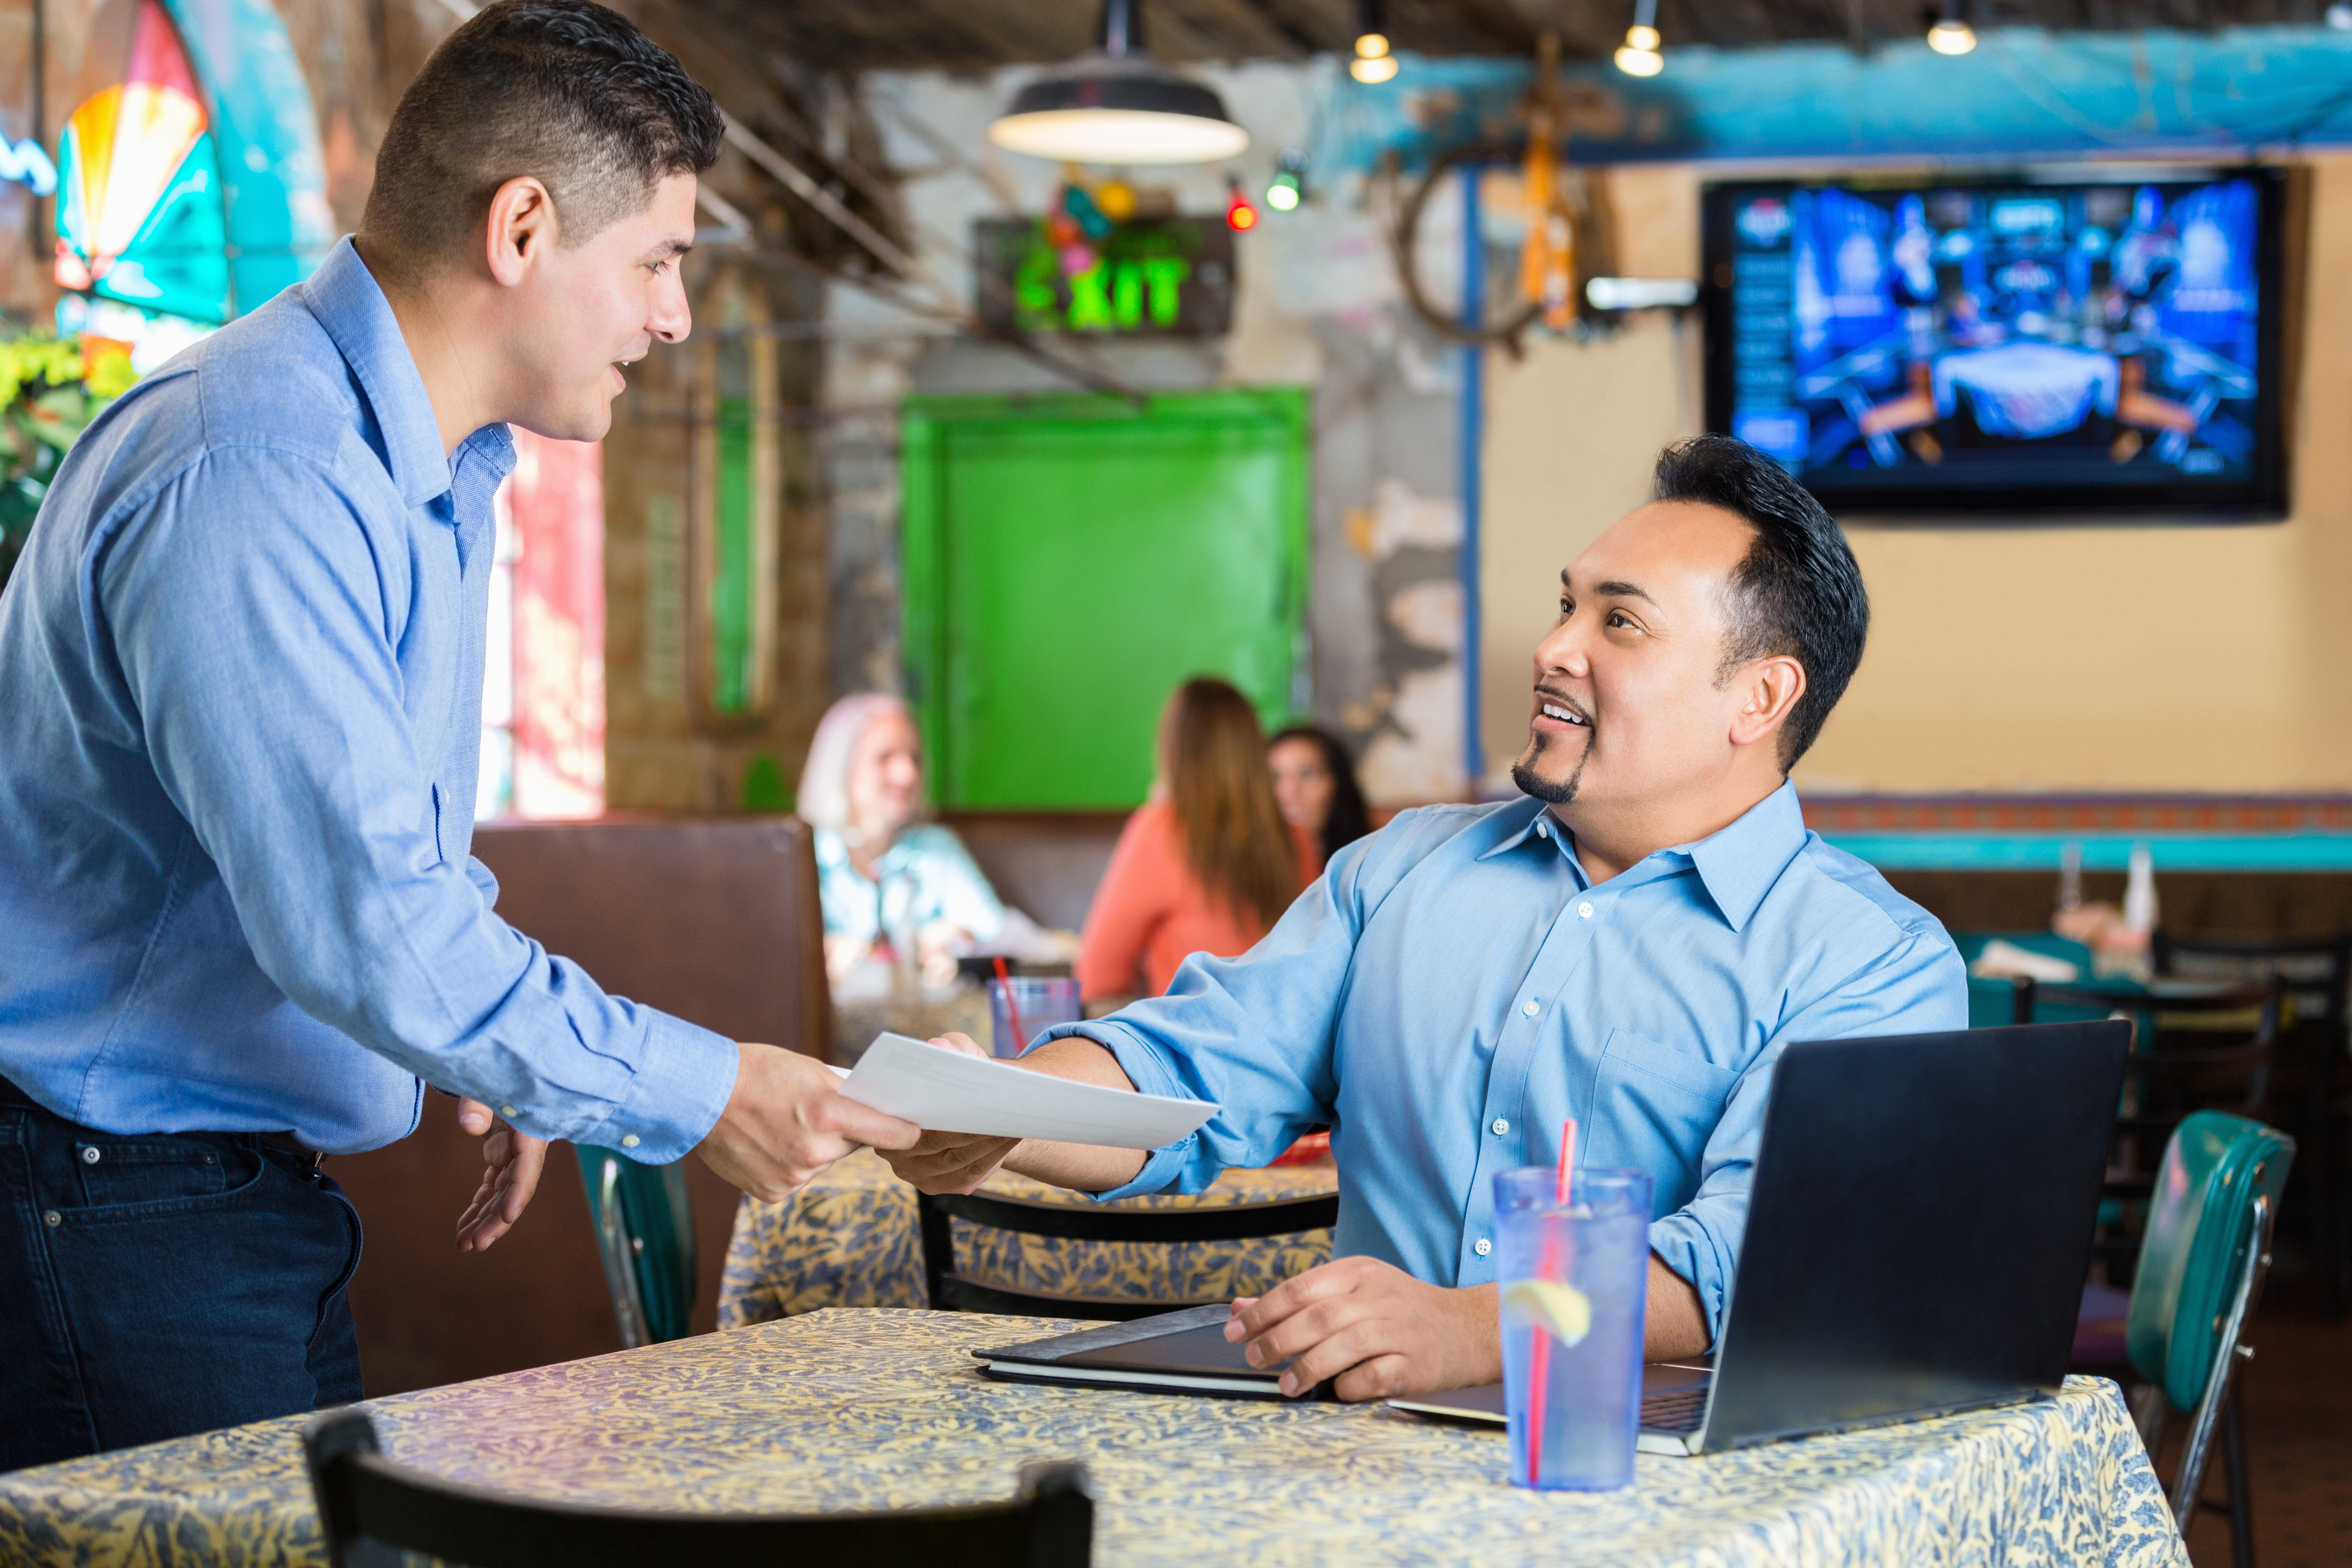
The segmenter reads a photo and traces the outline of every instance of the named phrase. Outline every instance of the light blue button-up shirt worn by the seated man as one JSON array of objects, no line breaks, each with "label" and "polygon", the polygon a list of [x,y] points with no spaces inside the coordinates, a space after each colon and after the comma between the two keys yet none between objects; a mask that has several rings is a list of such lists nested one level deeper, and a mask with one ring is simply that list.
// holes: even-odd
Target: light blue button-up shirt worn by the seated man
[{"label": "light blue button-up shirt worn by the seated man", "polygon": [[1406,811],[1244,957],[1054,1034],[1223,1107],[1103,1197],[1197,1192],[1329,1121],[1336,1253],[1442,1286],[1494,1279],[1496,1171],[1555,1164],[1576,1117],[1578,1168],[1649,1173],[1651,1248],[1715,1333],[1780,1048],[1964,1027],[1952,938],[1780,785],[1599,886],[1538,802]]}]

